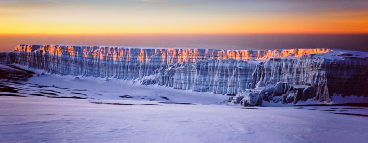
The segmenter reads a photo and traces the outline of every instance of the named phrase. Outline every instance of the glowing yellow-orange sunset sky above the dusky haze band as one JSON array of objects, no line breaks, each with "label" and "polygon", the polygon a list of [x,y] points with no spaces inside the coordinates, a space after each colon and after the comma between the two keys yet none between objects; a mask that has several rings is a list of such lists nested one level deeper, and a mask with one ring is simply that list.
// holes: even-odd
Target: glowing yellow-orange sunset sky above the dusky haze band
[{"label": "glowing yellow-orange sunset sky above the dusky haze band", "polygon": [[368,33],[368,1],[0,0],[0,34]]}]

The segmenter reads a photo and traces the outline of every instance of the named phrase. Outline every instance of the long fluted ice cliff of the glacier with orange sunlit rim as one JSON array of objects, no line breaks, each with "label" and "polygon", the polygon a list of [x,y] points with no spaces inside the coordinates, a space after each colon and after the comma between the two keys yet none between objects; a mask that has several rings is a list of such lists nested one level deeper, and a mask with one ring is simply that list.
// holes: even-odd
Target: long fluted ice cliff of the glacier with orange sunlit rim
[{"label": "long fluted ice cliff of the glacier with orange sunlit rim", "polygon": [[368,102],[368,53],[359,51],[18,45],[0,53],[0,61],[53,74],[226,94],[244,106],[334,103],[334,95]]}]

